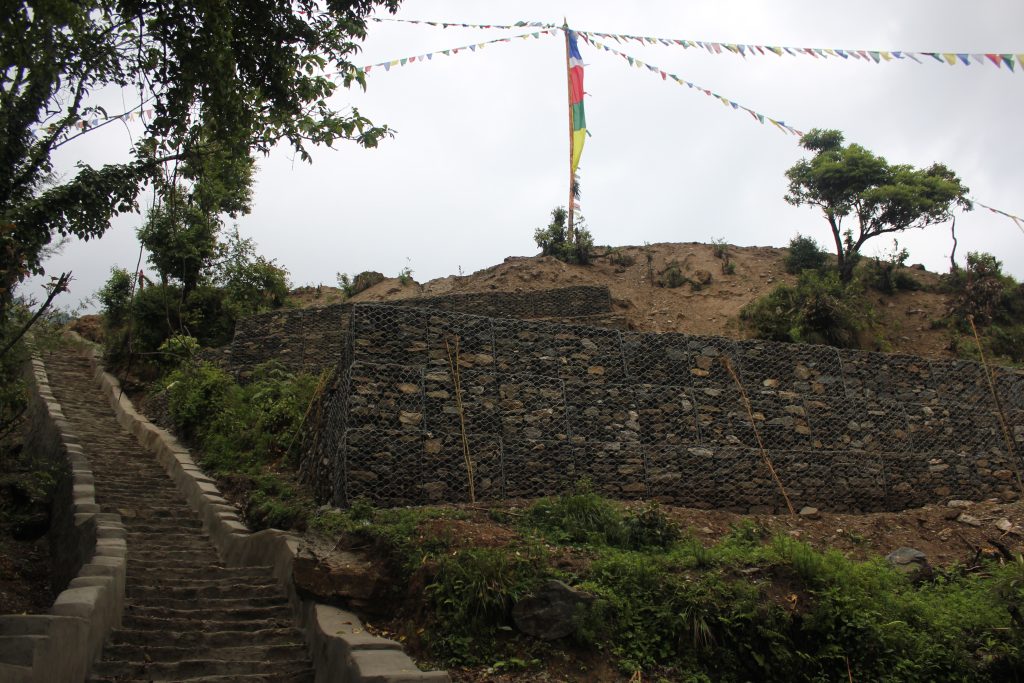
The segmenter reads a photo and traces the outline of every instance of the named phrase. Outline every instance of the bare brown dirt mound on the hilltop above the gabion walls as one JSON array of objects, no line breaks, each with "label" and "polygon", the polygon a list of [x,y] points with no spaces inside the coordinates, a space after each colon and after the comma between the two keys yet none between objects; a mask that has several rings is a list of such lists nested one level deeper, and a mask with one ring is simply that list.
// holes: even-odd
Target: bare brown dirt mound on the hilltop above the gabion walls
[{"label": "bare brown dirt mound on the hilltop above the gabion walls", "polygon": [[[782,266],[785,253],[786,250],[775,247],[660,243],[599,249],[593,263],[586,266],[546,256],[513,256],[468,275],[449,275],[422,285],[387,279],[349,300],[384,302],[445,294],[537,292],[599,285],[608,287],[613,312],[624,314],[631,330],[741,338],[739,309],[779,283],[795,282]],[[668,280],[667,271],[673,268],[684,284],[676,288],[659,286]],[[925,270],[908,272],[926,288],[939,280],[936,273]],[[296,302],[321,306],[343,298],[335,288],[324,287],[318,295],[314,290],[303,288]],[[878,310],[877,328],[884,334],[879,350],[933,357],[950,355],[948,333],[932,326],[945,312],[944,295],[916,291],[870,296]]]}]

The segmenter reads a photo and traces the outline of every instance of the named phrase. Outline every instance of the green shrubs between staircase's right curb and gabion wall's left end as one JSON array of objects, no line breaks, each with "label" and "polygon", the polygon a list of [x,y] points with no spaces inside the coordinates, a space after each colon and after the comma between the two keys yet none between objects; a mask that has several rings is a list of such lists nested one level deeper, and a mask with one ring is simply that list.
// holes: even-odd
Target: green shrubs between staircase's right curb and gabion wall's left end
[{"label": "green shrubs between staircase's right curb and gabion wall's left end", "polygon": [[256,529],[305,528],[313,505],[289,472],[316,379],[269,362],[240,386],[216,366],[187,362],[164,386],[175,429],[222,488],[243,500],[246,521]]}]

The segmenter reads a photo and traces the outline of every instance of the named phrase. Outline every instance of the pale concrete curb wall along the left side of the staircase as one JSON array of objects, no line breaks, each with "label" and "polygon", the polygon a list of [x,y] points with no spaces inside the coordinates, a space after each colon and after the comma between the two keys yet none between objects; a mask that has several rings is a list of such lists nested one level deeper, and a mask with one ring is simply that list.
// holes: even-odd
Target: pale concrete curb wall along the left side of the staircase
[{"label": "pale concrete curb wall along the left side of the staircase", "polygon": [[[124,610],[127,548],[121,516],[99,512],[92,470],[81,442],[53,397],[42,358],[33,353],[27,446],[70,465],[71,548],[61,548],[78,566],[49,614],[0,616],[0,680],[7,683],[84,681]],[[88,560],[86,560],[88,558]]]}]

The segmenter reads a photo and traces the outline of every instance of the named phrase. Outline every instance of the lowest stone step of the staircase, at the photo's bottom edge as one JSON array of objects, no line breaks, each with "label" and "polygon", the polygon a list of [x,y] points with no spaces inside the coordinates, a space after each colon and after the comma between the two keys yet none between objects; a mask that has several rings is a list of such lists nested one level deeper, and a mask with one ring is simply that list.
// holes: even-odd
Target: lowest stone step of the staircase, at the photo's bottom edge
[{"label": "lowest stone step of the staircase, at the photo's bottom edge", "polygon": [[[216,658],[193,658],[181,661],[98,661],[95,676],[122,680],[183,681],[201,676],[247,676],[251,674],[284,676],[309,670],[306,659],[264,661],[260,659],[225,661]],[[280,679],[279,679],[280,680]]]}]

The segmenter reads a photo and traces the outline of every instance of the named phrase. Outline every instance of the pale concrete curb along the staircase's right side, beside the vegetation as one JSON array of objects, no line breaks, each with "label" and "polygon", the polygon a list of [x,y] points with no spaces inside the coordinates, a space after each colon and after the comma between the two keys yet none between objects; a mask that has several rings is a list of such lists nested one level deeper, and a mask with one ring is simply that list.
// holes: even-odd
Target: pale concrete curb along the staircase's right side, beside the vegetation
[{"label": "pale concrete curb along the staircase's right side, beside the vegetation", "polygon": [[118,422],[156,455],[203,519],[203,528],[221,559],[232,566],[273,568],[274,578],[288,592],[296,621],[305,631],[316,683],[451,682],[446,672],[420,671],[399,643],[369,635],[355,614],[299,597],[292,579],[298,538],[279,529],[250,532],[188,451],[170,432],[138,413],[121,393],[120,383],[104,371],[95,349],[89,359],[94,380],[110,400]]}]

